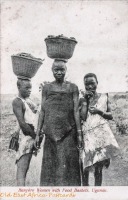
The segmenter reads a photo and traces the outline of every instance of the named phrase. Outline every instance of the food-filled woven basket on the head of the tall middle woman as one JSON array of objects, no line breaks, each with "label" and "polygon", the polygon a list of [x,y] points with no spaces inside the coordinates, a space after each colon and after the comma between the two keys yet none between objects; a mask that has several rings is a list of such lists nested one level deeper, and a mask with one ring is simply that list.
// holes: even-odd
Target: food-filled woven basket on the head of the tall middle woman
[{"label": "food-filled woven basket on the head of the tall middle woman", "polygon": [[69,59],[72,57],[77,41],[65,37],[48,37],[45,39],[47,55],[50,58]]}]

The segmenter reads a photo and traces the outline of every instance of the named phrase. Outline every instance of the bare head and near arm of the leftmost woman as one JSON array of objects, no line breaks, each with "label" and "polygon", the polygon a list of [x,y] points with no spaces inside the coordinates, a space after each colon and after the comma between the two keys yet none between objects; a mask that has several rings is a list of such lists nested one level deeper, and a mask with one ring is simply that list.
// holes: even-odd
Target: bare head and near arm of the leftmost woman
[{"label": "bare head and near arm of the leftmost woman", "polygon": [[[18,90],[19,90],[19,97],[22,99],[26,99],[30,96],[31,94],[31,82],[28,80],[22,81],[20,85],[18,85]],[[22,129],[24,135],[29,135],[33,139],[35,139],[35,133],[32,130],[32,128],[25,122],[24,120],[24,113],[25,113],[25,105],[21,101],[21,99],[15,98],[12,102],[13,106],[13,112],[19,122],[20,128]]]}]

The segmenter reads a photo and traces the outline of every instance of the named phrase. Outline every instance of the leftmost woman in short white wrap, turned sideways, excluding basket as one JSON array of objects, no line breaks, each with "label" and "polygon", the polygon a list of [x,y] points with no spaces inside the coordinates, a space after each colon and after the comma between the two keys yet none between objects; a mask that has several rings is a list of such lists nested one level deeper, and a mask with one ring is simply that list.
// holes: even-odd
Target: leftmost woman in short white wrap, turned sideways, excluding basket
[{"label": "leftmost woman in short white wrap, turned sideways, excluding basket", "polygon": [[35,134],[35,112],[33,111],[30,102],[27,102],[31,94],[31,81],[29,79],[18,79],[17,87],[19,94],[13,100],[13,112],[20,126],[19,133],[19,148],[16,154],[17,163],[17,186],[25,186],[26,174],[29,169],[29,164],[34,150]]}]

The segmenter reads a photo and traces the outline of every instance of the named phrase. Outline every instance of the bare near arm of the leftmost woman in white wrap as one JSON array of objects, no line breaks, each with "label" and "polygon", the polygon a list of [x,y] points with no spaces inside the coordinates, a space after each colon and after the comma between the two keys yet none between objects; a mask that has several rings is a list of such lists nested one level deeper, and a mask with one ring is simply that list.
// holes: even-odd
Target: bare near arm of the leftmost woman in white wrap
[{"label": "bare near arm of the leftmost woman in white wrap", "polygon": [[13,106],[13,112],[19,122],[23,134],[35,138],[36,135],[34,133],[34,130],[24,120],[25,107],[23,102],[20,99],[14,99],[12,102],[12,106]]}]

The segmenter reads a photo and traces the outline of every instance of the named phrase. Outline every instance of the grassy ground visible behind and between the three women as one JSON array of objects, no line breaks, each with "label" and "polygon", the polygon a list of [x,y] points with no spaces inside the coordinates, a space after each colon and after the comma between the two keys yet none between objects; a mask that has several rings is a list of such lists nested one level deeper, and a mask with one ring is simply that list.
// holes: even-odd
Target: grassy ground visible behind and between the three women
[{"label": "grassy ground visible behind and between the three women", "polygon": [[[11,102],[15,95],[1,95],[1,132],[0,132],[0,158],[1,158],[1,186],[16,186],[15,152],[9,151],[11,134],[15,130],[16,119],[12,112]],[[128,93],[110,93],[114,120],[110,122],[113,133],[120,146],[121,153],[111,162],[109,169],[104,170],[104,186],[128,186]],[[33,99],[38,102],[36,97]],[[37,186],[41,167],[42,152],[34,158],[27,176],[28,186]],[[36,163],[35,167],[34,164]],[[93,176],[91,175],[91,184]]]}]

